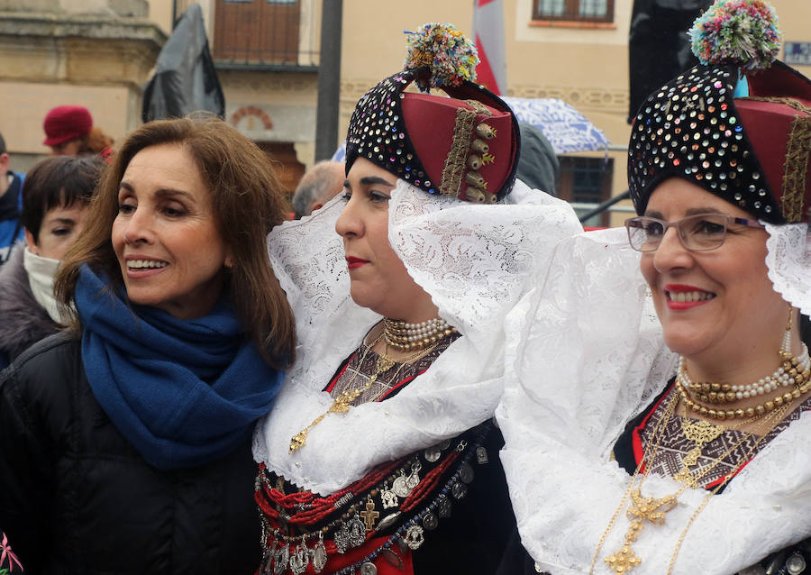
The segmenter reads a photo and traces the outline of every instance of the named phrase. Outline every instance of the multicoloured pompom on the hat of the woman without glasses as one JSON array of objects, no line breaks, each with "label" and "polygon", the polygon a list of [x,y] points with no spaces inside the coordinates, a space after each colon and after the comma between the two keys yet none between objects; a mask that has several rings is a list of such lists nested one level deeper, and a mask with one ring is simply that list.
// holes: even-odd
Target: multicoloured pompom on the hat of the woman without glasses
[{"label": "multicoloured pompom on the hat of the woman without glasses", "polygon": [[404,68],[431,68],[431,78],[415,81],[422,91],[476,79],[476,46],[451,24],[427,23],[418,32],[406,33],[408,54]]}]

